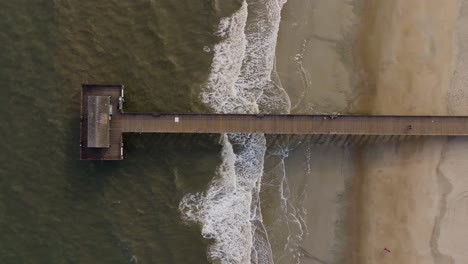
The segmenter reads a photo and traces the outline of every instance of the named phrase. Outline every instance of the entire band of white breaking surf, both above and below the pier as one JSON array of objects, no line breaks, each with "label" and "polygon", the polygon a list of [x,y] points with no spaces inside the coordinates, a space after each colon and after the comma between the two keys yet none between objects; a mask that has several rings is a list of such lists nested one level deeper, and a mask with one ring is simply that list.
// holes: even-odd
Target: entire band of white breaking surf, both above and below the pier
[{"label": "entire band of white breaking surf, both above and below the pier", "polygon": [[[213,48],[201,94],[215,112],[289,111],[289,99],[271,77],[284,2],[244,1],[219,23],[216,34],[222,40]],[[222,164],[208,189],[188,194],[180,203],[183,217],[200,223],[202,235],[214,241],[209,256],[215,262],[273,263],[259,199],[265,142],[262,134],[224,135]]]}]

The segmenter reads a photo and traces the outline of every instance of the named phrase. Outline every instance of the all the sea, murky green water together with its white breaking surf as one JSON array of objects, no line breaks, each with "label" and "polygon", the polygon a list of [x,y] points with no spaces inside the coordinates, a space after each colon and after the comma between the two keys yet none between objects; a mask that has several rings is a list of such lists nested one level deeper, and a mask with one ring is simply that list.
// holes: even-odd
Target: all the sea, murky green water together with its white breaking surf
[{"label": "all the sea, murky green water together with its white breaking surf", "polygon": [[284,3],[0,1],[0,262],[273,263],[264,135],[126,135],[124,161],[81,162],[79,96],[122,83],[131,111],[287,113]]}]

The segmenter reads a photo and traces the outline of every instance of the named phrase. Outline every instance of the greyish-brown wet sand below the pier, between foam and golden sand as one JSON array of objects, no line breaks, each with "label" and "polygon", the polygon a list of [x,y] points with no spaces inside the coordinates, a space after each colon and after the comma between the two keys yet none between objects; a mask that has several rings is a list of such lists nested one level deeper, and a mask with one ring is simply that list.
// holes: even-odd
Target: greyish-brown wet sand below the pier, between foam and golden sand
[{"label": "greyish-brown wet sand below the pier, between foam and golden sand", "polygon": [[[350,149],[305,144],[286,160],[291,199],[306,210],[300,263],[336,263],[346,246]],[[302,199],[302,201],[297,201]]]}]

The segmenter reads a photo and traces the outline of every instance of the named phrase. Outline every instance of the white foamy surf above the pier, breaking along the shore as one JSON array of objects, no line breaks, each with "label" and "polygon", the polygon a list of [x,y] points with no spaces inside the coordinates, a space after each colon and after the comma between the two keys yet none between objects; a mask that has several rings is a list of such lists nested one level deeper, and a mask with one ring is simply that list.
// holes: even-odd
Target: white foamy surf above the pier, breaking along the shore
[{"label": "white foamy surf above the pier, breaking along the shore", "polygon": [[258,0],[223,18],[216,34],[211,74],[201,94],[218,113],[256,113],[259,101],[268,108],[289,111],[289,98],[271,79],[275,63],[281,7],[285,1]]}]

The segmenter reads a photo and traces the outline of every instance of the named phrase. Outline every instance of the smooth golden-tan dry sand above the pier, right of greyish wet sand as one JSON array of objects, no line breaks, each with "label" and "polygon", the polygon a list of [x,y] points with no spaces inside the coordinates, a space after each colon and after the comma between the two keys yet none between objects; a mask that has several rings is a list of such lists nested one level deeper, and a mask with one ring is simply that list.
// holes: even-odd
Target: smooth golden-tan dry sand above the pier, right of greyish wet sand
[{"label": "smooth golden-tan dry sand above the pier, right of greyish wet sand", "polygon": [[355,60],[370,90],[355,109],[446,114],[454,67],[457,0],[367,0]]}]

